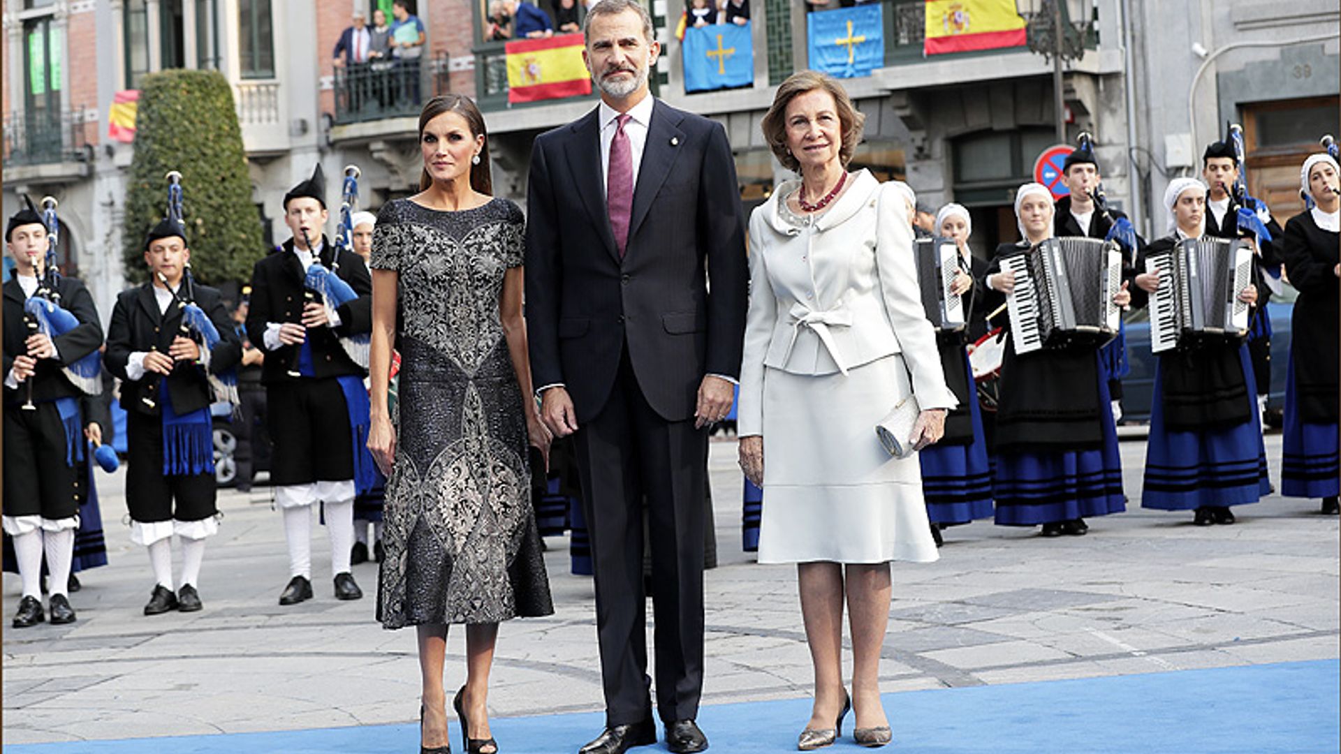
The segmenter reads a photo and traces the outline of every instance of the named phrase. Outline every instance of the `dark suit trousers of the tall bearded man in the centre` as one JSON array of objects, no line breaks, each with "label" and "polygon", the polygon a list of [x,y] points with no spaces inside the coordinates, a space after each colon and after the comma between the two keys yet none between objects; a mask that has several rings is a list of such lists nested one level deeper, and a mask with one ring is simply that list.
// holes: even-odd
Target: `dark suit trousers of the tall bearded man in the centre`
[{"label": "dark suit trousers of the tall bearded man in the centre", "polygon": [[708,431],[648,404],[628,347],[609,401],[574,435],[582,513],[595,569],[597,635],[607,724],[642,720],[648,694],[642,499],[656,610],[657,711],[692,719],[703,691],[703,490]]}]

